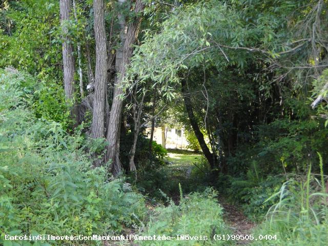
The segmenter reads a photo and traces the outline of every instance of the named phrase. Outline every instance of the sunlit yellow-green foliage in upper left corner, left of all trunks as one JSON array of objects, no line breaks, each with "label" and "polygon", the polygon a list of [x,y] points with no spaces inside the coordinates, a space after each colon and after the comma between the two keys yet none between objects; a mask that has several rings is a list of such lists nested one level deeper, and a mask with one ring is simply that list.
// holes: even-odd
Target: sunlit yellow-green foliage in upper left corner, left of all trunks
[{"label": "sunlit yellow-green foliage in upper left corner, left of all trunks", "polygon": [[13,66],[40,76],[59,77],[60,59],[58,1],[10,3],[2,9],[7,25],[0,29],[0,67]]}]

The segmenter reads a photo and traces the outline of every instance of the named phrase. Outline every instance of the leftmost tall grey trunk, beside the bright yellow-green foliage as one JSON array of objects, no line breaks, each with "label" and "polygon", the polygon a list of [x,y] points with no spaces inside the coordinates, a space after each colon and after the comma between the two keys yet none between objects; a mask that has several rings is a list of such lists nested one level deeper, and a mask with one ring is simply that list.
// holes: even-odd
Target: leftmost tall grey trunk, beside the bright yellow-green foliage
[{"label": "leftmost tall grey trunk, beside the bright yellow-green foliage", "polygon": [[[74,56],[73,56],[73,46],[69,40],[68,34],[68,20],[70,15],[71,0],[60,0],[59,2],[60,11],[60,24],[63,33],[63,70],[64,70],[64,89],[67,103],[73,103],[74,94]],[[77,117],[77,108],[71,108],[71,116],[73,119]]]}]

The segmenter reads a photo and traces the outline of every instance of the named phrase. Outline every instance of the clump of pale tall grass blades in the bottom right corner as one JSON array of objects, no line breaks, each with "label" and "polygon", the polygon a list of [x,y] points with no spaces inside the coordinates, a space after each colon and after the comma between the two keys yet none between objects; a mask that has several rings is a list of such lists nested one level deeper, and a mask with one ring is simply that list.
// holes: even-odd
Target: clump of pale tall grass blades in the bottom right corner
[{"label": "clump of pale tall grass blades in the bottom right corner", "polygon": [[292,175],[280,190],[268,200],[278,197],[271,207],[267,220],[254,234],[277,235],[277,240],[257,241],[252,245],[326,245],[328,241],[328,194],[325,191],[327,176],[311,174]]}]

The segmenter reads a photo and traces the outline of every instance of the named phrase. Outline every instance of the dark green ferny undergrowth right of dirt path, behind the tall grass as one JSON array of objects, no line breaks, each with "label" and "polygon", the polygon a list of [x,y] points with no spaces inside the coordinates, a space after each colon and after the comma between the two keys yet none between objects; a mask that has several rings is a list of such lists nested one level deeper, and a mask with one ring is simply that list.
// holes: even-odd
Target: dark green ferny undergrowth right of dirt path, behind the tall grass
[{"label": "dark green ferny undergrowth right of dirt path, behind the tall grass", "polygon": [[[309,163],[314,172],[319,172],[316,152],[322,153],[323,158],[327,156],[328,129],[324,120],[311,117],[307,106],[290,100],[288,105],[297,114],[258,126],[252,148],[250,144],[240,145],[227,158],[226,175],[218,178],[216,187],[220,194],[241,203],[252,220],[261,220],[278,201],[275,197],[264,202],[278,191],[286,175],[306,174]],[[327,172],[326,165],[323,172]]]}]

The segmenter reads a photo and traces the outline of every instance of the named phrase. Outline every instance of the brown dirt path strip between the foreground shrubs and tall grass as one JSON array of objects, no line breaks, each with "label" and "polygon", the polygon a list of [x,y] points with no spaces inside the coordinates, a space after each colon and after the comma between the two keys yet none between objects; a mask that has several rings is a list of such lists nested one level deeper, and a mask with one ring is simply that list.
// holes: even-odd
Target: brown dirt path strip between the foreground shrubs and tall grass
[{"label": "brown dirt path strip between the foreground shrubs and tall grass", "polygon": [[[230,226],[235,235],[249,235],[255,224],[240,211],[236,206],[227,203],[223,199],[219,199],[219,203],[224,208],[224,221]],[[250,241],[238,241],[236,244],[247,244]]]}]

